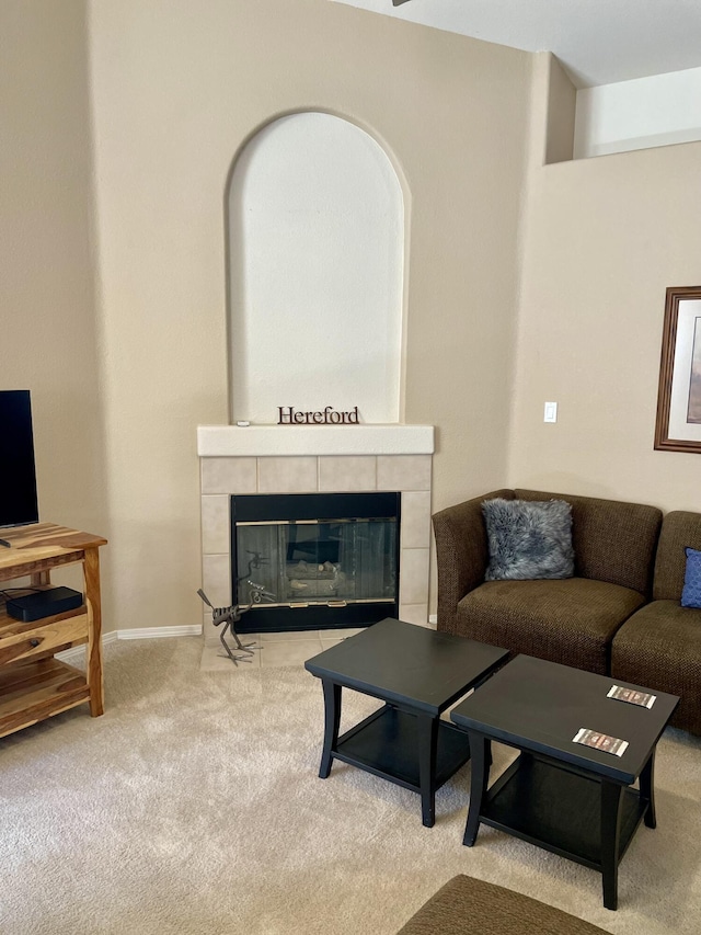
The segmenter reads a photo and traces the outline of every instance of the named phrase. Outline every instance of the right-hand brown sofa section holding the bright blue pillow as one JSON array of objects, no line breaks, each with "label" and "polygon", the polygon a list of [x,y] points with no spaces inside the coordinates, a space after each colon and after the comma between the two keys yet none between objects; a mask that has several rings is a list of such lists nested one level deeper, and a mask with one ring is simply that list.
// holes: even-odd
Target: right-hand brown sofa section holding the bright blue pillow
[{"label": "right-hand brown sofa section holding the bright blue pillow", "polygon": [[667,513],[655,559],[653,600],[614,635],[611,675],[679,695],[671,723],[701,734],[701,609],[680,604],[687,546],[701,550],[701,513]]}]

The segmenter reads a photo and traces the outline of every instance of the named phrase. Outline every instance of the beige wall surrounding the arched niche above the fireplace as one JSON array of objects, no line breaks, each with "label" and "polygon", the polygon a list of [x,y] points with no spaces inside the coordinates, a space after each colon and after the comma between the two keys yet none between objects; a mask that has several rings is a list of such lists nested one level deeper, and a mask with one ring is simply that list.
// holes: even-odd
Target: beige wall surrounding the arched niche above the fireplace
[{"label": "beige wall surrounding the arched niche above the fireplace", "polygon": [[411,217],[405,420],[438,429],[436,506],[502,482],[529,56],[325,0],[90,9],[107,627],[199,619],[195,427],[228,422],[226,180],[280,114],[338,114],[390,152]]}]

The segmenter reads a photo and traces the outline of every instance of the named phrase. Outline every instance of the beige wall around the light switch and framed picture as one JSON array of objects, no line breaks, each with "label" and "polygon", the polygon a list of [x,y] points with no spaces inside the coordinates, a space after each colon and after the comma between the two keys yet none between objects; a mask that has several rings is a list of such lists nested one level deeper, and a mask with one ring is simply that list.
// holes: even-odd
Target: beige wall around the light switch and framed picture
[{"label": "beige wall around the light switch and framed picture", "polygon": [[510,483],[701,510],[701,460],[653,451],[665,289],[701,282],[700,166],[699,142],[531,161]]}]

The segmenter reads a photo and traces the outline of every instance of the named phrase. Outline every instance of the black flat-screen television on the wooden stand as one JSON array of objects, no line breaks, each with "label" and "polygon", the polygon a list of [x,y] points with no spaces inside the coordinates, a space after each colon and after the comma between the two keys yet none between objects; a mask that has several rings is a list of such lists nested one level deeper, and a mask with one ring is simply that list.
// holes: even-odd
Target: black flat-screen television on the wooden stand
[{"label": "black flat-screen television on the wooden stand", "polygon": [[0,526],[38,523],[28,389],[0,390]]}]

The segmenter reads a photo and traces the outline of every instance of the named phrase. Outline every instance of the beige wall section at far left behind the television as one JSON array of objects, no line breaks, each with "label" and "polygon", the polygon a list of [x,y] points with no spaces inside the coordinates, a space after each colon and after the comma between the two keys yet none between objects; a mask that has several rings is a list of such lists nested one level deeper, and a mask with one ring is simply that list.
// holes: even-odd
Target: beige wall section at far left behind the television
[{"label": "beige wall section at far left behind the television", "polygon": [[106,534],[83,2],[0,4],[0,387],[30,389],[39,515]]}]

